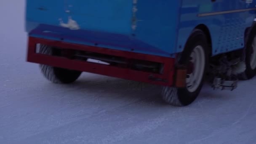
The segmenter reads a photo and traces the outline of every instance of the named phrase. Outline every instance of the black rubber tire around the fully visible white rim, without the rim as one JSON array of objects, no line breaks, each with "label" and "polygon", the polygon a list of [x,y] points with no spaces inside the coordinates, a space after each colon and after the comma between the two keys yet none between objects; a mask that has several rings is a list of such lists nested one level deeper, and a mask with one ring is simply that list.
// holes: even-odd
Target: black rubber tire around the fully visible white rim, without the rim
[{"label": "black rubber tire around the fully visible white rim, without the rim", "polygon": [[189,92],[187,90],[187,87],[185,88],[163,87],[162,99],[166,103],[174,106],[187,106],[191,104],[193,101],[195,101],[195,99],[199,95],[203,87],[206,69],[209,63],[209,54],[208,54],[209,47],[208,47],[207,39],[204,32],[201,31],[200,29],[195,29],[190,35],[185,45],[184,51],[181,53],[181,59],[179,61],[179,64],[187,65],[192,51],[198,45],[201,45],[203,47],[204,53],[205,53],[205,69],[203,72],[203,78],[200,81],[200,85],[194,92]]}]

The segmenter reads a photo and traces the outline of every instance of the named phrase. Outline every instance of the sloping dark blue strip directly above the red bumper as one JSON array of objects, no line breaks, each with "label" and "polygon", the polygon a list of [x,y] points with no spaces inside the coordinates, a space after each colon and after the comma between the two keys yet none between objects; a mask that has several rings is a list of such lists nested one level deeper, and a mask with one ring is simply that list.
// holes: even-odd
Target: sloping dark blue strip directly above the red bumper
[{"label": "sloping dark blue strip directly above the red bumper", "polygon": [[63,27],[40,24],[37,28],[29,32],[29,36],[91,46],[97,44],[97,46],[102,48],[170,57],[169,53],[166,53],[159,48],[152,47],[140,40],[132,40],[130,37],[122,34],[110,34],[108,32],[96,32],[81,29],[74,31]]}]

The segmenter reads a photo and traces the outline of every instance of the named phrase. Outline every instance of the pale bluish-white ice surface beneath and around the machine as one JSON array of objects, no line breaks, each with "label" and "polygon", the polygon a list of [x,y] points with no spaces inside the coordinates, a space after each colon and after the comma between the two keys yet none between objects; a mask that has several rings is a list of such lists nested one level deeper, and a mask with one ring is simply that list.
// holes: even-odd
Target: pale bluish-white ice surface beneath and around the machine
[{"label": "pale bluish-white ice surface beneath and around the machine", "polygon": [[26,62],[24,0],[0,0],[0,144],[256,144],[256,78],[188,107],[158,86],[84,73],[55,85]]}]

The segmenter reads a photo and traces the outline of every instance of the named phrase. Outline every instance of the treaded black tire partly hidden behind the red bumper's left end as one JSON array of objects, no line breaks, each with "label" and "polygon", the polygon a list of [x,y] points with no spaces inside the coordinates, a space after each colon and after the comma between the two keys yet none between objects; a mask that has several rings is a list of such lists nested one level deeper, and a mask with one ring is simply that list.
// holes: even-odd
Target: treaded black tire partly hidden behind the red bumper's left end
[{"label": "treaded black tire partly hidden behind the red bumper's left end", "polygon": [[[46,45],[40,46],[40,53],[54,55],[54,51],[51,47]],[[82,72],[63,69],[59,67],[52,67],[45,64],[40,64],[41,72],[43,73],[46,79],[50,80],[52,83],[61,83],[61,84],[69,84],[73,83],[77,80],[77,78],[81,75]]]}]

